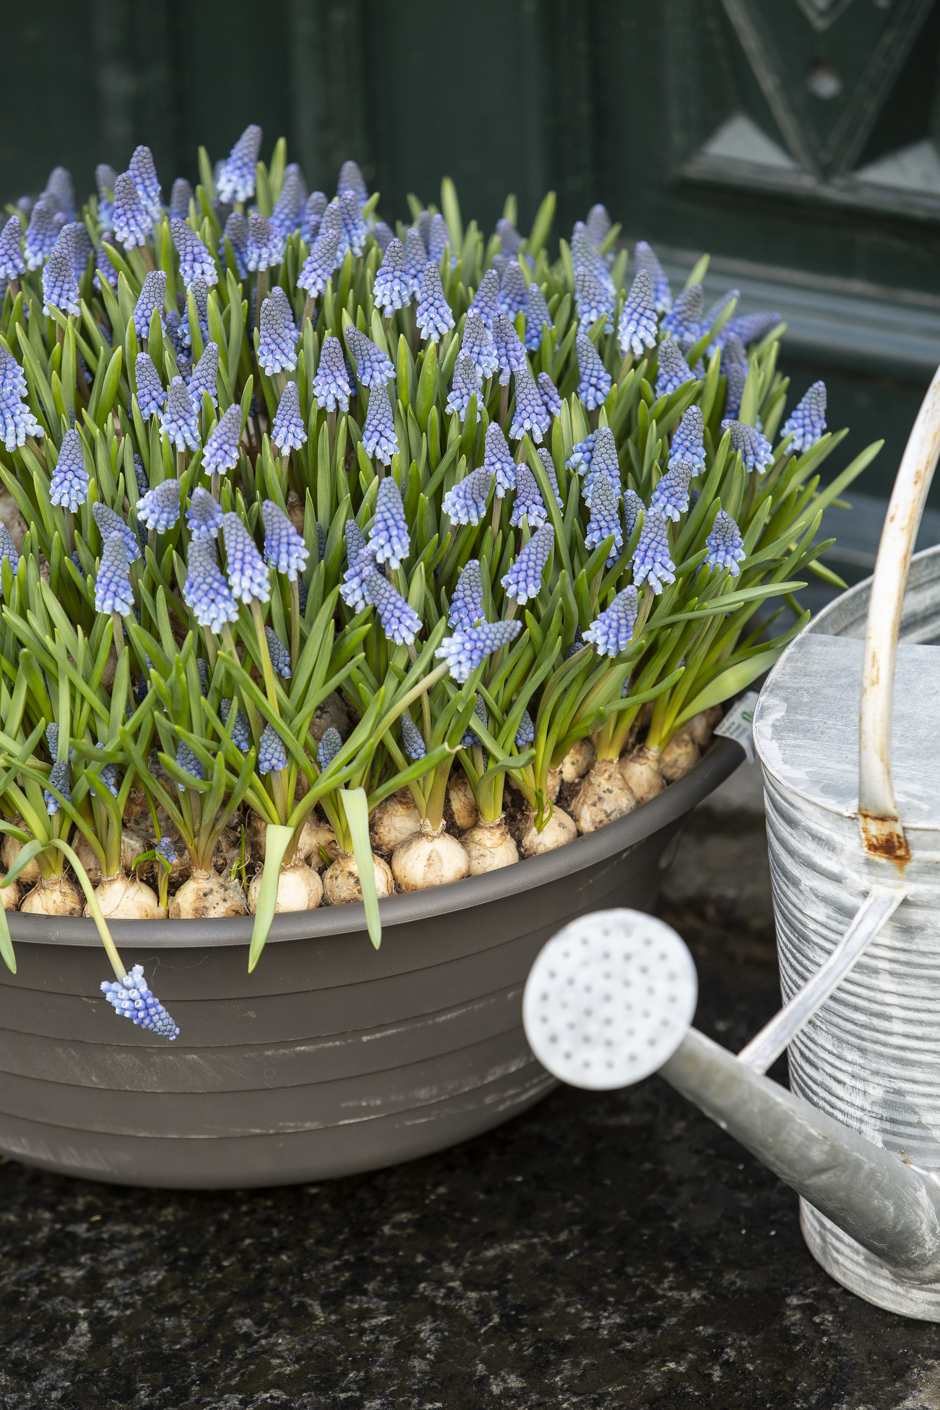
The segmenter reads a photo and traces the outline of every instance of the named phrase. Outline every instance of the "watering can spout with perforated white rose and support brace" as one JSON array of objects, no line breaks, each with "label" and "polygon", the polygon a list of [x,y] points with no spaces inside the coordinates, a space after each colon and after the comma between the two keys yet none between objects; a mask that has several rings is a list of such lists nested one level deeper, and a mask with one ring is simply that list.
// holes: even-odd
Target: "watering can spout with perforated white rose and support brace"
[{"label": "watering can spout with perforated white rose and support brace", "polygon": [[583,916],[533,966],[523,998],[528,1042],[572,1086],[624,1087],[658,1072],[898,1276],[934,1283],[940,1183],[764,1076],[902,895],[870,895],[802,1005],[791,1001],[740,1056],[691,1026],[695,964],[668,925],[637,911]]}]

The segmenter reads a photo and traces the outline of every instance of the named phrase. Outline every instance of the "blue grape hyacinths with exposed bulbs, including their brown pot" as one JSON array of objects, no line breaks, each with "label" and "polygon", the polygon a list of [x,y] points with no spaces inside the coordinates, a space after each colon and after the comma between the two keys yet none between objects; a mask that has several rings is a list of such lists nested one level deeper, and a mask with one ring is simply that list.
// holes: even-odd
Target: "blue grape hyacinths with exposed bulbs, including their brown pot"
[{"label": "blue grape hyacinths with exposed bulbs, including their brown pot", "polygon": [[602,206],[555,258],[551,195],[392,228],[261,141],[168,204],[145,147],[80,209],[56,168],[0,231],[0,1146],[101,1179],[342,1173],[536,1100],[531,957],[653,900],[878,450],[820,488],[779,317]]}]

